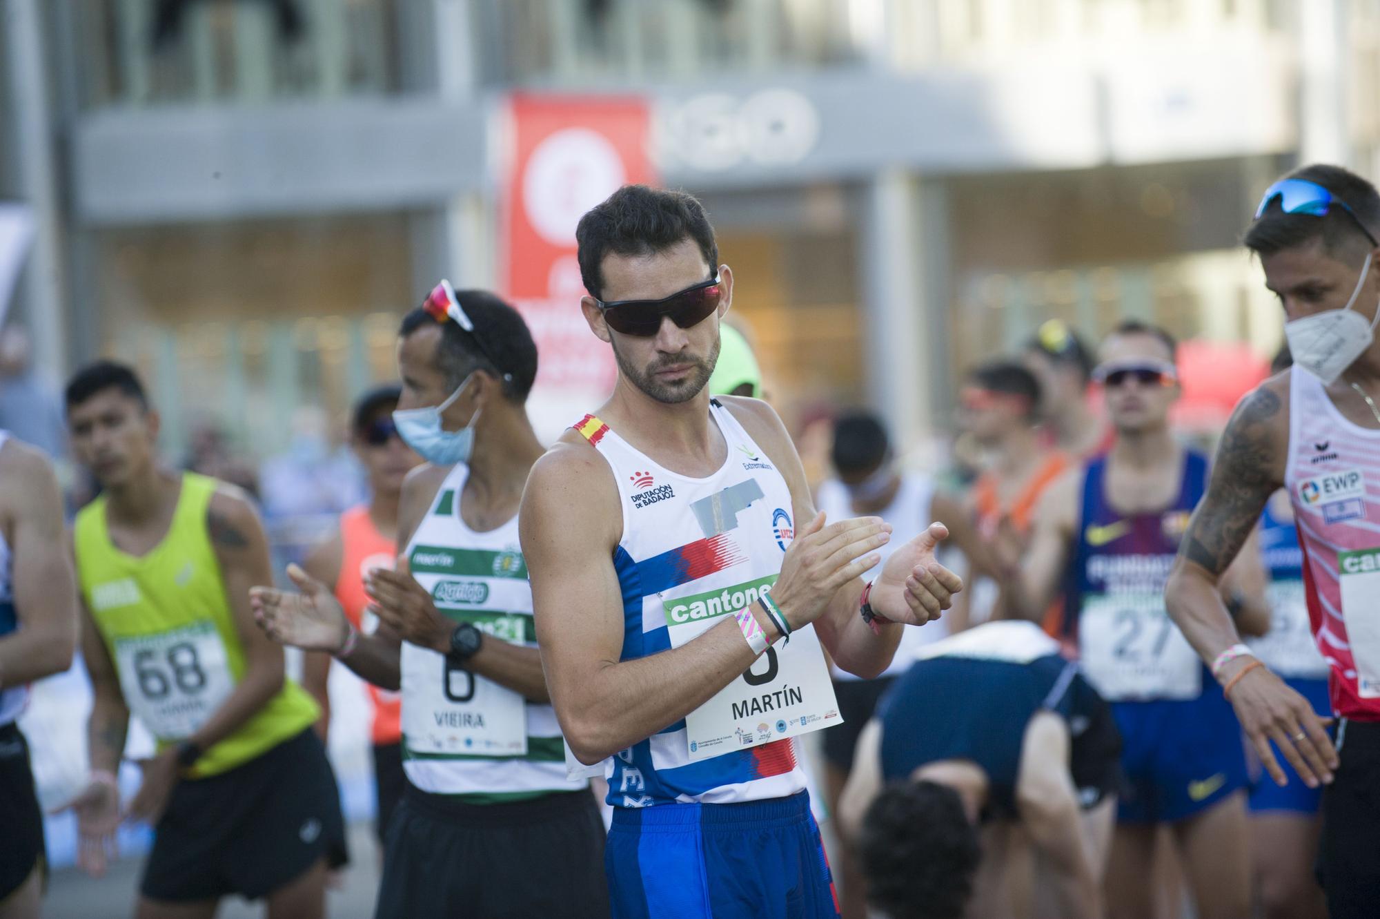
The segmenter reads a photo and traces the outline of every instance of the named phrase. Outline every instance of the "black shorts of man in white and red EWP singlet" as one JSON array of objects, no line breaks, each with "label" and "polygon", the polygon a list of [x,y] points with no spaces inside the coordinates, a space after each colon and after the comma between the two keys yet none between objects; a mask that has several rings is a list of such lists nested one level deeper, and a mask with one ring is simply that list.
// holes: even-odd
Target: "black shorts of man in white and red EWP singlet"
[{"label": "black shorts of man in white and red EWP singlet", "polygon": [[1341,767],[1322,792],[1319,875],[1332,919],[1380,909],[1380,722],[1344,720]]}]

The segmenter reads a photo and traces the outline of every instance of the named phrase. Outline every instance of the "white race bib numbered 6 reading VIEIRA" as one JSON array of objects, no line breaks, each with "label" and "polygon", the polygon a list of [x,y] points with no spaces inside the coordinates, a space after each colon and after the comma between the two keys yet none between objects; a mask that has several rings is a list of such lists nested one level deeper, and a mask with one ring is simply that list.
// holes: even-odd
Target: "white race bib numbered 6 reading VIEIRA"
[{"label": "white race bib numbered 6 reading VIEIRA", "polygon": [[[522,643],[530,615],[469,613],[453,620]],[[414,753],[522,756],[527,752],[523,697],[454,664],[444,654],[403,643],[403,735]]]}]

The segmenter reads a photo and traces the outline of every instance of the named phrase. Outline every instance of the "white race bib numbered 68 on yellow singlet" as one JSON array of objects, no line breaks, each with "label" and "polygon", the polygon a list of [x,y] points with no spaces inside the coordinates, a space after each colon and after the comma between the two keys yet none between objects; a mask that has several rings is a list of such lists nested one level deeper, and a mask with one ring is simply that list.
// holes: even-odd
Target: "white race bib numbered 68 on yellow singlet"
[{"label": "white race bib numbered 68 on yellow singlet", "polygon": [[130,711],[159,740],[195,734],[235,690],[214,622],[116,639],[115,654]]}]

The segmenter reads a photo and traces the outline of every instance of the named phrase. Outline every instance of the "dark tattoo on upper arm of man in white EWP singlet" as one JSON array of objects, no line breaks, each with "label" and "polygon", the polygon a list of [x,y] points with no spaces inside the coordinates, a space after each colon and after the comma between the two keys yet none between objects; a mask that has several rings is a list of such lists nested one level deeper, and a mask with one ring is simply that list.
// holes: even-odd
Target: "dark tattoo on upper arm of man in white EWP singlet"
[{"label": "dark tattoo on upper arm of man in white EWP singlet", "polygon": [[1221,574],[1236,553],[1278,487],[1271,468],[1275,444],[1271,426],[1279,414],[1279,396],[1257,389],[1227,422],[1212,483],[1179,548],[1183,557]]}]

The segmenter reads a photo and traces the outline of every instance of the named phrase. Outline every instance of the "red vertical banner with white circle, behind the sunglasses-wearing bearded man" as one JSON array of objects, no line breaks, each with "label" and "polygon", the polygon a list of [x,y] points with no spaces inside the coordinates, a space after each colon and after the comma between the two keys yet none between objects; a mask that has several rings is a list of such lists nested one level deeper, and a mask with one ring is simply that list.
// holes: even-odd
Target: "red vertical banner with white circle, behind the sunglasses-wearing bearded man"
[{"label": "red vertical banner with white circle, behind the sunglasses-wearing bearded man", "polygon": [[549,436],[613,388],[613,353],[580,312],[575,225],[618,186],[656,182],[650,115],[642,98],[527,94],[506,115],[502,286],[537,339],[530,410]]}]

